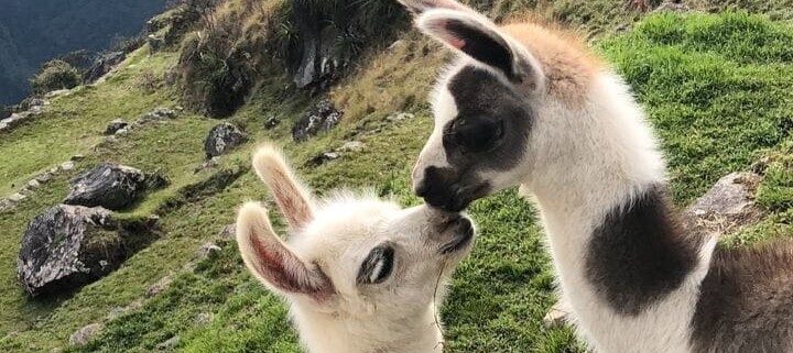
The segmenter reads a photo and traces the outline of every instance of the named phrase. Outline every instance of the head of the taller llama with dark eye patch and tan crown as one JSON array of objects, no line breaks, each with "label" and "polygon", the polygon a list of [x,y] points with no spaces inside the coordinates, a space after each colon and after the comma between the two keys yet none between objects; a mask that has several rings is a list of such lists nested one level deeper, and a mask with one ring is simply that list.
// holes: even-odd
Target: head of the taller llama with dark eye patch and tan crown
[{"label": "head of the taller llama with dark eye patch and tan crown", "polygon": [[459,211],[521,184],[540,154],[575,139],[597,63],[574,41],[534,24],[499,27],[454,0],[401,2],[458,54],[435,88],[435,128],[413,170],[427,203]]}]

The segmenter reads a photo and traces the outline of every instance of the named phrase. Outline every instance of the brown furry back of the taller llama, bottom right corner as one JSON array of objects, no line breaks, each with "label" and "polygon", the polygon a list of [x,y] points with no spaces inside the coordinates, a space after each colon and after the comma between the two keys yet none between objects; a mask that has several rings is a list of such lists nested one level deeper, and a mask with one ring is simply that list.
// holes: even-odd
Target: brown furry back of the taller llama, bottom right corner
[{"label": "brown furry back of the taller llama, bottom right corner", "polygon": [[793,243],[716,250],[699,290],[694,352],[793,352]]}]

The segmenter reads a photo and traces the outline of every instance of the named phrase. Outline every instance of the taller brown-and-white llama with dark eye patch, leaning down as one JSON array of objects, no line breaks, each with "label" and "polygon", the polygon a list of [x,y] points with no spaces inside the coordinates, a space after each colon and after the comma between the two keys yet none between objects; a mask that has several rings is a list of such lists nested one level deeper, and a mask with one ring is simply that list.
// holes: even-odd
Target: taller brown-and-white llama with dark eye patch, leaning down
[{"label": "taller brown-and-white llama with dark eye patch, leaning down", "polygon": [[562,300],[597,352],[793,352],[793,246],[721,250],[681,225],[664,158],[618,75],[537,24],[402,2],[459,54],[436,86],[419,196],[459,211],[512,186],[533,195]]}]

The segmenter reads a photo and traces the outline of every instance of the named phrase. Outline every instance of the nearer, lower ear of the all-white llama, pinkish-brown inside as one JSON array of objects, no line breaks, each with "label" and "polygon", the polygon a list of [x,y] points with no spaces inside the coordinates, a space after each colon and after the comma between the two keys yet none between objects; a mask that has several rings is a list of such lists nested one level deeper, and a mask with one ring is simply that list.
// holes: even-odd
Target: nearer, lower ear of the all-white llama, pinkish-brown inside
[{"label": "nearer, lower ear of the all-white llama, pinkish-brown inside", "polygon": [[270,224],[267,209],[246,203],[237,218],[237,244],[248,269],[271,289],[322,301],[334,293],[328,277],[286,247]]}]

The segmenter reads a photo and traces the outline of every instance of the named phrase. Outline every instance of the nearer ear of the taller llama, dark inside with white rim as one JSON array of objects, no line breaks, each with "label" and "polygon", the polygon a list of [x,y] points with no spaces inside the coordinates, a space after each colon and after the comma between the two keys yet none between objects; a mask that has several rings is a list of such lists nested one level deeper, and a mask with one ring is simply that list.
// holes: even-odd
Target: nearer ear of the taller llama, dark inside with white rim
[{"label": "nearer ear of the taller llama, dark inside with white rim", "polygon": [[485,15],[470,11],[430,10],[416,19],[416,26],[446,46],[502,73],[510,81],[542,81],[539,62]]}]

